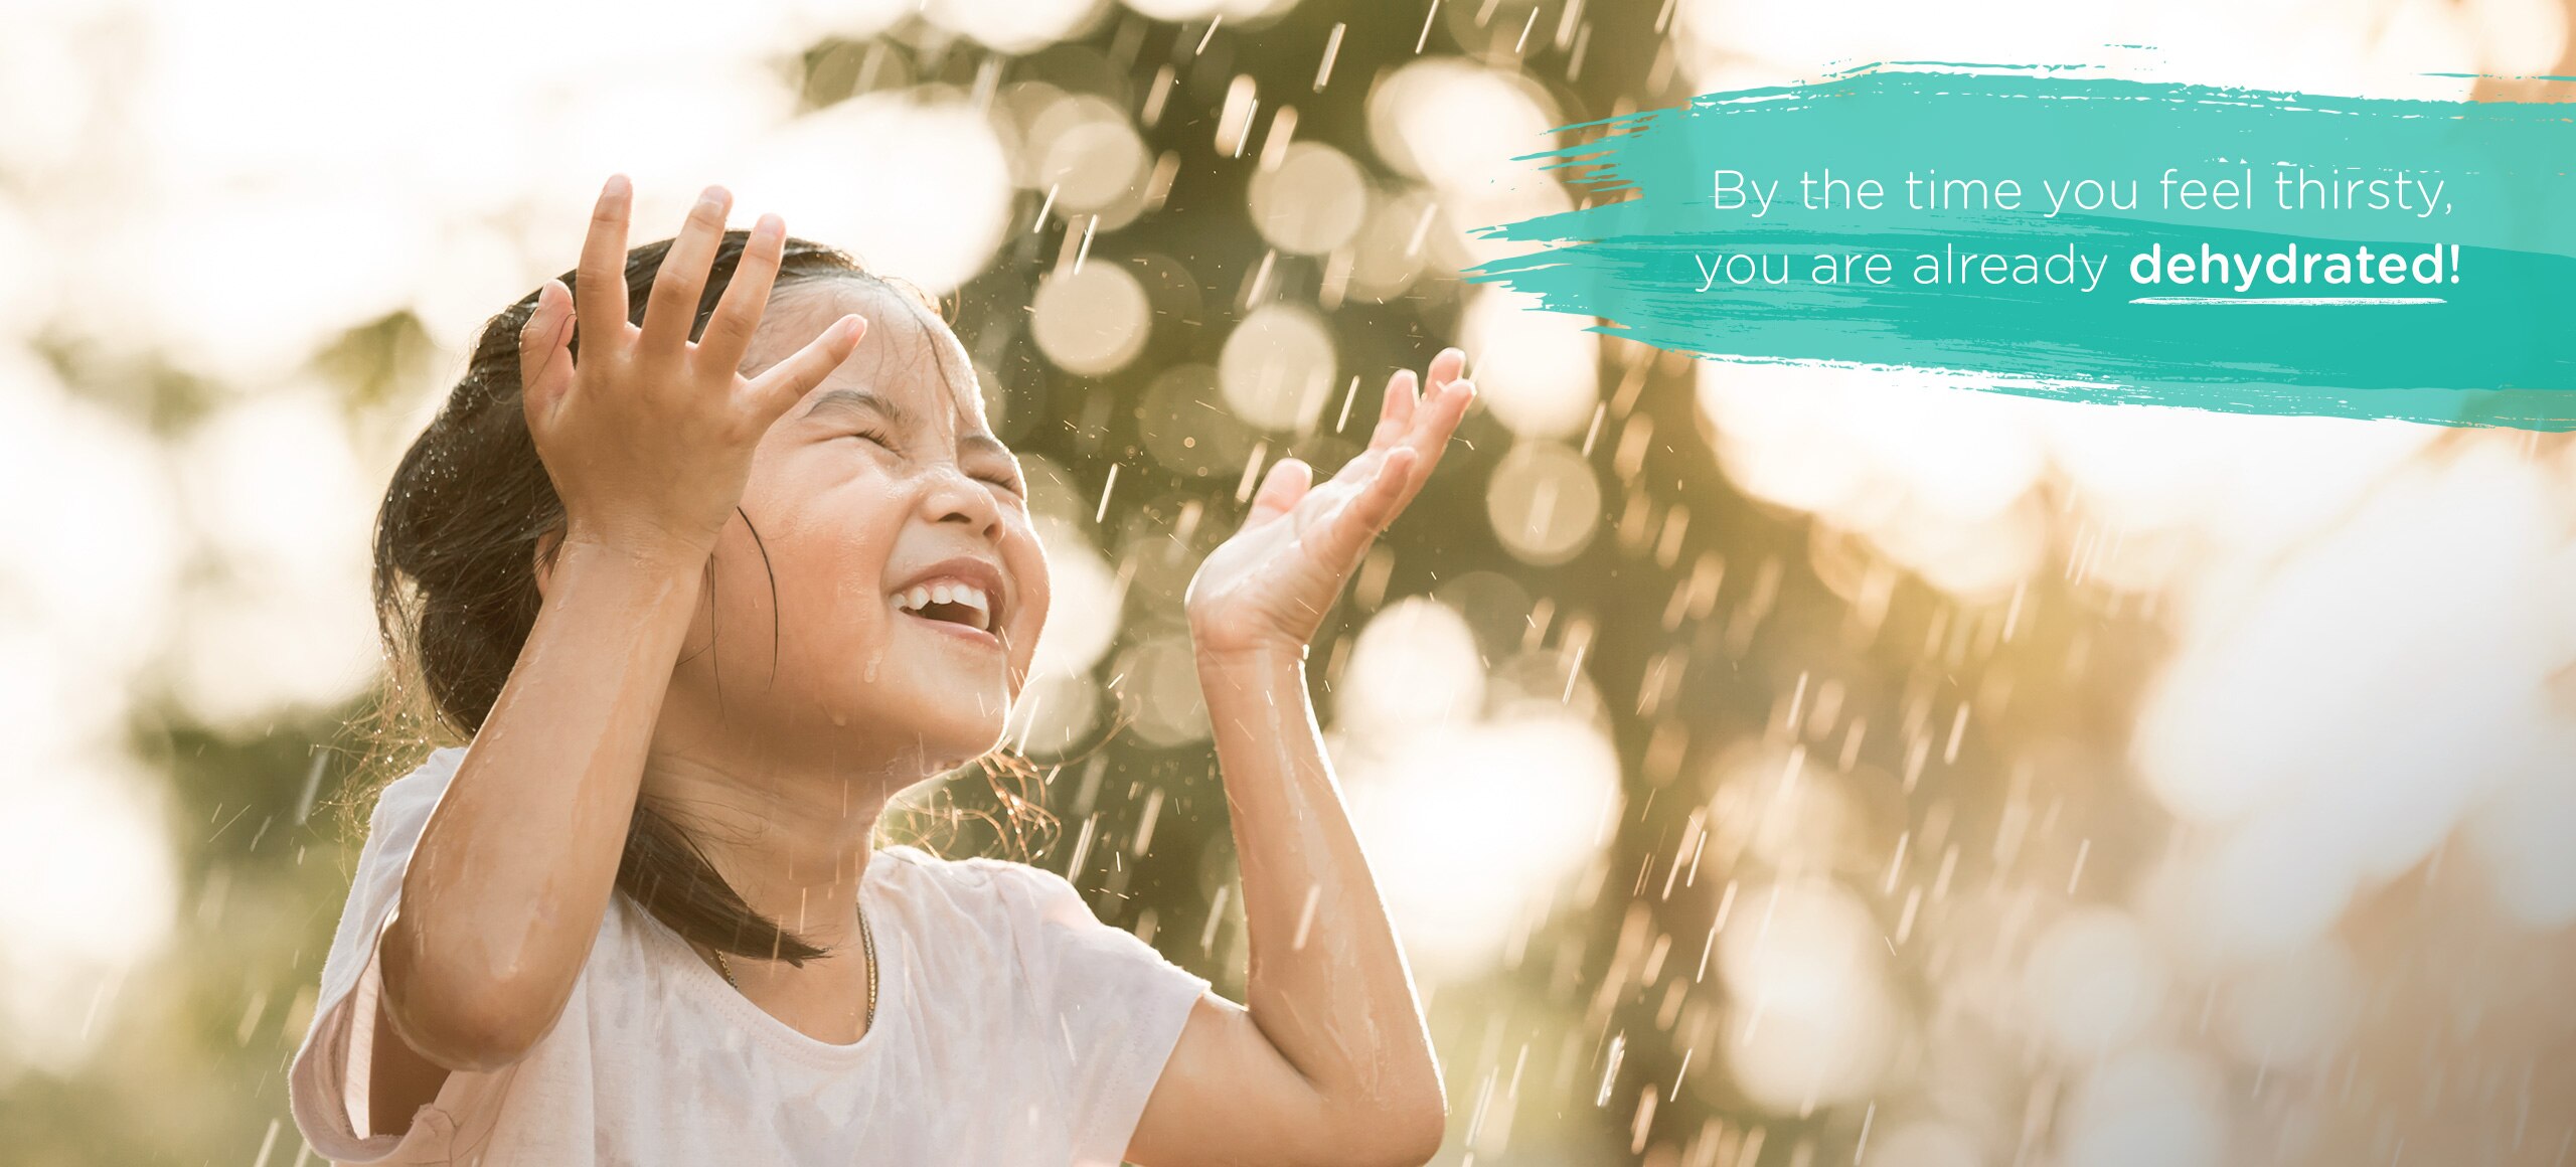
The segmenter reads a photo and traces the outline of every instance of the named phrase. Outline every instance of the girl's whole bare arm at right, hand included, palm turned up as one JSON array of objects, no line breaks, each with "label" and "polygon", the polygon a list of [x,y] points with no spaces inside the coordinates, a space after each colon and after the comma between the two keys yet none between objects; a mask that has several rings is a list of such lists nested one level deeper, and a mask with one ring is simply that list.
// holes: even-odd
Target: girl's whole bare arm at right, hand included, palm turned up
[{"label": "girl's whole bare arm at right, hand included, palm turned up", "polygon": [[1306,693],[1306,644],[1368,544],[1430,477],[1473,399],[1458,350],[1388,384],[1370,448],[1306,489],[1270,469],[1244,531],[1190,582],[1198,678],[1224,768],[1252,940],[1247,1007],[1203,997],[1128,1157],[1419,1164],[1445,1097],[1404,951],[1342,809]]}]

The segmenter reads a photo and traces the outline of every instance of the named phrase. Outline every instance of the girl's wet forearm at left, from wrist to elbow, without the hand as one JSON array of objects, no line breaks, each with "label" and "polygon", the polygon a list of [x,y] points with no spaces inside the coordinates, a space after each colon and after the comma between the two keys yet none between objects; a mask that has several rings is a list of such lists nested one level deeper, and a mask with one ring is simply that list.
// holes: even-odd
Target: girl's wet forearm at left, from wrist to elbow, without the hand
[{"label": "girl's wet forearm at left, from wrist to elbow, without the hand", "polygon": [[386,1018],[430,1061],[515,1061],[572,997],[616,889],[701,564],[688,549],[562,546],[536,629],[422,827],[384,935]]}]

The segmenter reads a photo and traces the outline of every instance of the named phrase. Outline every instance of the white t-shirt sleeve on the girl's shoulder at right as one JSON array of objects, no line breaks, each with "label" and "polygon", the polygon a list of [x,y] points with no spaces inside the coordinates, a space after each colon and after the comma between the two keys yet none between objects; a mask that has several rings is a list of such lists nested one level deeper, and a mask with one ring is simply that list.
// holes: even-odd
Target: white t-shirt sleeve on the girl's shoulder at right
[{"label": "white t-shirt sleeve on the girl's shoulder at right", "polygon": [[1115,1167],[1208,979],[1100,922],[1064,876],[984,863],[1005,886],[1048,1067],[1072,1103],[1074,1167]]}]

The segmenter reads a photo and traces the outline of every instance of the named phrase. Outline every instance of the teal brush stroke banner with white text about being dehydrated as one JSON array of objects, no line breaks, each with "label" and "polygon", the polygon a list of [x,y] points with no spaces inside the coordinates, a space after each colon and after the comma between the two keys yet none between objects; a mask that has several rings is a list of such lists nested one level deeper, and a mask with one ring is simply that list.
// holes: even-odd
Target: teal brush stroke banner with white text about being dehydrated
[{"label": "teal brush stroke banner with white text about being dehydrated", "polygon": [[[1528,160],[1584,209],[1481,229],[1548,247],[1466,276],[1703,356],[2571,430],[2571,116],[1870,67],[1564,126],[1582,142]],[[1862,180],[1878,209],[1850,206]],[[2004,180],[2017,209],[1999,206]]]}]

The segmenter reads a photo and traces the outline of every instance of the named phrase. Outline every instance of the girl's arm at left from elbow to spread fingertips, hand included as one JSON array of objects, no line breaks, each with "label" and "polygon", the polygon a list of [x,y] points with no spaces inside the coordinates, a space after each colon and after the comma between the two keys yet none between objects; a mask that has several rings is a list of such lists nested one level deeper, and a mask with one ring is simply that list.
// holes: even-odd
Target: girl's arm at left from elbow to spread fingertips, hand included
[{"label": "girl's arm at left from elbow to spread fingertips, hand included", "polygon": [[[778,270],[778,216],[752,229],[703,340],[688,340],[726,204],[711,188],[690,211],[636,327],[626,319],[631,196],[611,178],[580,289],[549,281],[523,332],[528,433],[567,528],[538,574],[536,629],[422,827],[384,930],[381,1023],[428,1064],[518,1061],[572,997],[616,886],[701,569],[750,477],[752,446],[858,343],[860,325],[845,317],[760,379],[737,374]],[[404,1069],[402,1054],[379,1046],[376,1064],[392,1056],[389,1069]],[[443,1077],[430,1074],[430,1090]],[[394,1121],[407,1121],[394,1103]]]}]

